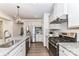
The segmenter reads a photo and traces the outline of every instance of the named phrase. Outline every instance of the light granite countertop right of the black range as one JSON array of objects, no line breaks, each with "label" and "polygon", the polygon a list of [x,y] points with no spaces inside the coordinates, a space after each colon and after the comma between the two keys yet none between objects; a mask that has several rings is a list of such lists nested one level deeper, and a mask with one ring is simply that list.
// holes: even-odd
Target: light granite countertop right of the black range
[{"label": "light granite countertop right of the black range", "polygon": [[79,56],[79,42],[62,42],[59,43],[59,45],[68,50],[69,52],[71,52],[72,54],[74,54],[75,56]]}]

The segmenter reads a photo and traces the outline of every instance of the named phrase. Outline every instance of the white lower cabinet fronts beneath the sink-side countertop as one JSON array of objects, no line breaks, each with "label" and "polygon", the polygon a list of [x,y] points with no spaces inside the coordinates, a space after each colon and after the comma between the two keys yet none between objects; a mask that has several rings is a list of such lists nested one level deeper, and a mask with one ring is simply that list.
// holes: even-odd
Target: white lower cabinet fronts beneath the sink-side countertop
[{"label": "white lower cabinet fronts beneath the sink-side countertop", "polygon": [[7,56],[25,56],[26,55],[26,48],[25,48],[25,41],[18,45],[14,50],[12,50]]}]

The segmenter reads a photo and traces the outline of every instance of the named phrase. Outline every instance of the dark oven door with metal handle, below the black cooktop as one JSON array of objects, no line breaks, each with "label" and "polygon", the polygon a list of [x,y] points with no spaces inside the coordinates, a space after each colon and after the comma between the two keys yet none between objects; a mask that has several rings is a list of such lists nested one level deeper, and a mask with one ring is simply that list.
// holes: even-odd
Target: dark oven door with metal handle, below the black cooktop
[{"label": "dark oven door with metal handle, below the black cooktop", "polygon": [[49,55],[58,56],[59,55],[58,46],[54,45],[52,42],[49,42]]}]

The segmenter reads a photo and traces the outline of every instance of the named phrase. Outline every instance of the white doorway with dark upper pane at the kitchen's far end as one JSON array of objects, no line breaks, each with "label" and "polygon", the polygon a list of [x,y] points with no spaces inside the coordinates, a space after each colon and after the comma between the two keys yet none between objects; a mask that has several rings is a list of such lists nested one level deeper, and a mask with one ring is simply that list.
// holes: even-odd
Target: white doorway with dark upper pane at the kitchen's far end
[{"label": "white doorway with dark upper pane at the kitchen's far end", "polygon": [[42,27],[33,27],[33,42],[42,42],[43,33]]}]

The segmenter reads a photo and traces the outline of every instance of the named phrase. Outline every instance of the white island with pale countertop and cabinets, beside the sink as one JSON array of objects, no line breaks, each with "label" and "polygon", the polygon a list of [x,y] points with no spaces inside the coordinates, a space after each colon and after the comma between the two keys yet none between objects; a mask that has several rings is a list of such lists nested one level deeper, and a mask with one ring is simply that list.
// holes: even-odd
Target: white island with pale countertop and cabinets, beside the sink
[{"label": "white island with pale countertop and cabinets, beside the sink", "polygon": [[21,37],[20,39],[13,38],[14,40],[19,40],[17,43],[12,45],[11,47],[2,48],[0,47],[0,56],[25,56],[26,54],[26,39],[29,36]]}]

